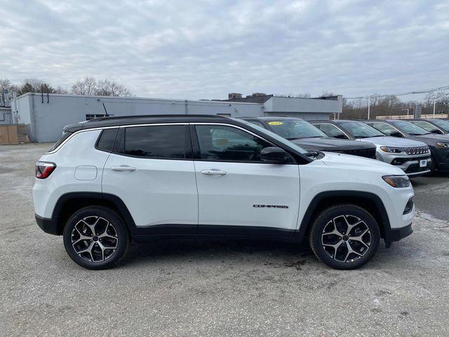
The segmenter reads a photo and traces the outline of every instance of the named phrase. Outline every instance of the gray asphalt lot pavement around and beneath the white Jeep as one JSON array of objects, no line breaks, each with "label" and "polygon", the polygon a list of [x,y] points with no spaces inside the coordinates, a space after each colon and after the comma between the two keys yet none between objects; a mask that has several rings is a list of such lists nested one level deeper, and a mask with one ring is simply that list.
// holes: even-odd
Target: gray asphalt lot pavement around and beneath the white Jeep
[{"label": "gray asphalt lot pavement around and beneath the white Jeep", "polygon": [[1,336],[449,336],[446,176],[413,180],[415,232],[360,270],[295,244],[170,240],[91,271],[34,222],[48,147],[0,147]]}]

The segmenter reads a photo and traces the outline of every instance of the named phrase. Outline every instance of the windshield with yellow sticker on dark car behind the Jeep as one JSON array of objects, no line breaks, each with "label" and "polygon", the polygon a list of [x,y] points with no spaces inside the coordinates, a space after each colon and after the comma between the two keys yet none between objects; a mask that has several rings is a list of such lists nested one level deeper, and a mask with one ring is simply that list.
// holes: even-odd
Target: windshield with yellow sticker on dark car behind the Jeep
[{"label": "windshield with yellow sticker on dark car behind the Jeep", "polygon": [[326,133],[302,119],[272,120],[267,123],[271,131],[287,139],[327,137]]}]

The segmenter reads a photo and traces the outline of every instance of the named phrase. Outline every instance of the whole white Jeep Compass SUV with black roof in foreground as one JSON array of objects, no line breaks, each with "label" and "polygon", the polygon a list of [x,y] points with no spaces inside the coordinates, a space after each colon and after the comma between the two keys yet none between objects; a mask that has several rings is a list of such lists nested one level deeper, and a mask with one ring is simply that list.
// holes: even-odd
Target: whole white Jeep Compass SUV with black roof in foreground
[{"label": "whole white Jeep Compass SUV with black roof in foreground", "polygon": [[104,117],[67,126],[36,163],[36,222],[74,262],[116,264],[130,241],[257,236],[301,242],[337,269],[411,234],[401,169],[306,152],[245,121],[201,115]]}]

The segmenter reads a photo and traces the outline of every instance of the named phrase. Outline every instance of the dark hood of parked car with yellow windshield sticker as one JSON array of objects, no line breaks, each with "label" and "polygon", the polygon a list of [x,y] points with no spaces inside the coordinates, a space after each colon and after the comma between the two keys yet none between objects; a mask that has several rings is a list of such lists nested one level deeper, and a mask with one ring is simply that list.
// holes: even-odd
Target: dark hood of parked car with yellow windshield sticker
[{"label": "dark hood of parked car with yellow windshield sticker", "polygon": [[300,145],[300,147],[303,147],[306,150],[320,151],[363,150],[375,147],[375,145],[370,143],[361,143],[356,140],[344,140],[331,137],[300,138],[290,140],[290,142]]}]

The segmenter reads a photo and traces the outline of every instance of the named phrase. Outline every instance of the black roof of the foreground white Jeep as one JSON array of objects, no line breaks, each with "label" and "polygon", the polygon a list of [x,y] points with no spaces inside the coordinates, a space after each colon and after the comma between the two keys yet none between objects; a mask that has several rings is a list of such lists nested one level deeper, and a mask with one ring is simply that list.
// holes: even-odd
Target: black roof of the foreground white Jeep
[{"label": "black roof of the foreground white Jeep", "polygon": [[227,122],[233,123],[233,119],[208,114],[145,114],[138,116],[114,116],[91,119],[82,124],[81,128],[102,128],[105,126],[121,126],[130,124],[154,124],[154,123],[208,123]]}]

